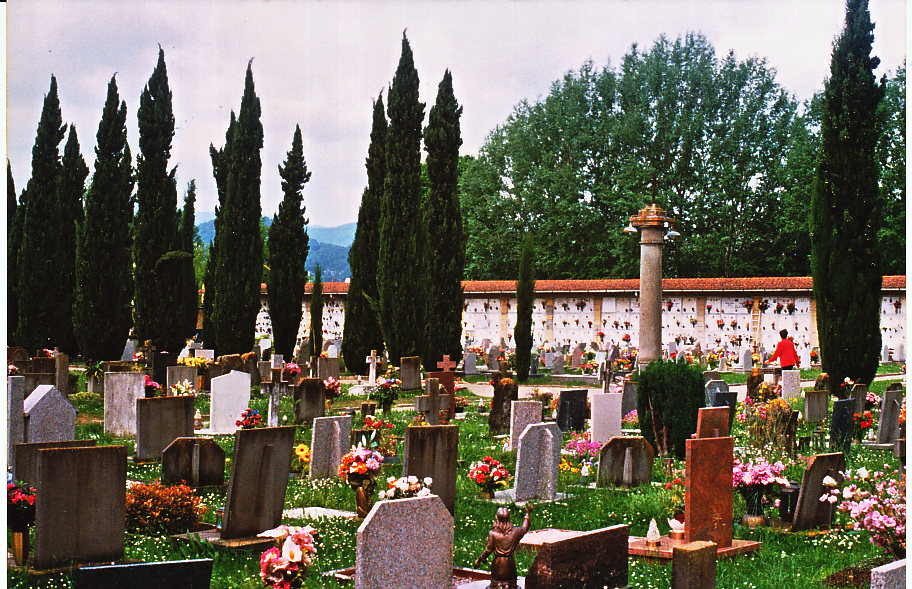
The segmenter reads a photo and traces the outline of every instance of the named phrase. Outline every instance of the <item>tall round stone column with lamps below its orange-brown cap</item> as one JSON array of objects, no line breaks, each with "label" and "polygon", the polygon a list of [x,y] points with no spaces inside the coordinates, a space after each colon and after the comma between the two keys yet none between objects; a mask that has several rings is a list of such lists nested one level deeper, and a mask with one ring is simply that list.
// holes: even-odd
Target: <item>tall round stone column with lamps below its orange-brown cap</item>
[{"label": "tall round stone column with lamps below its orange-brown cap", "polygon": [[675,220],[655,204],[630,217],[624,233],[640,234],[640,341],[637,365],[662,359],[662,241],[675,239]]}]

